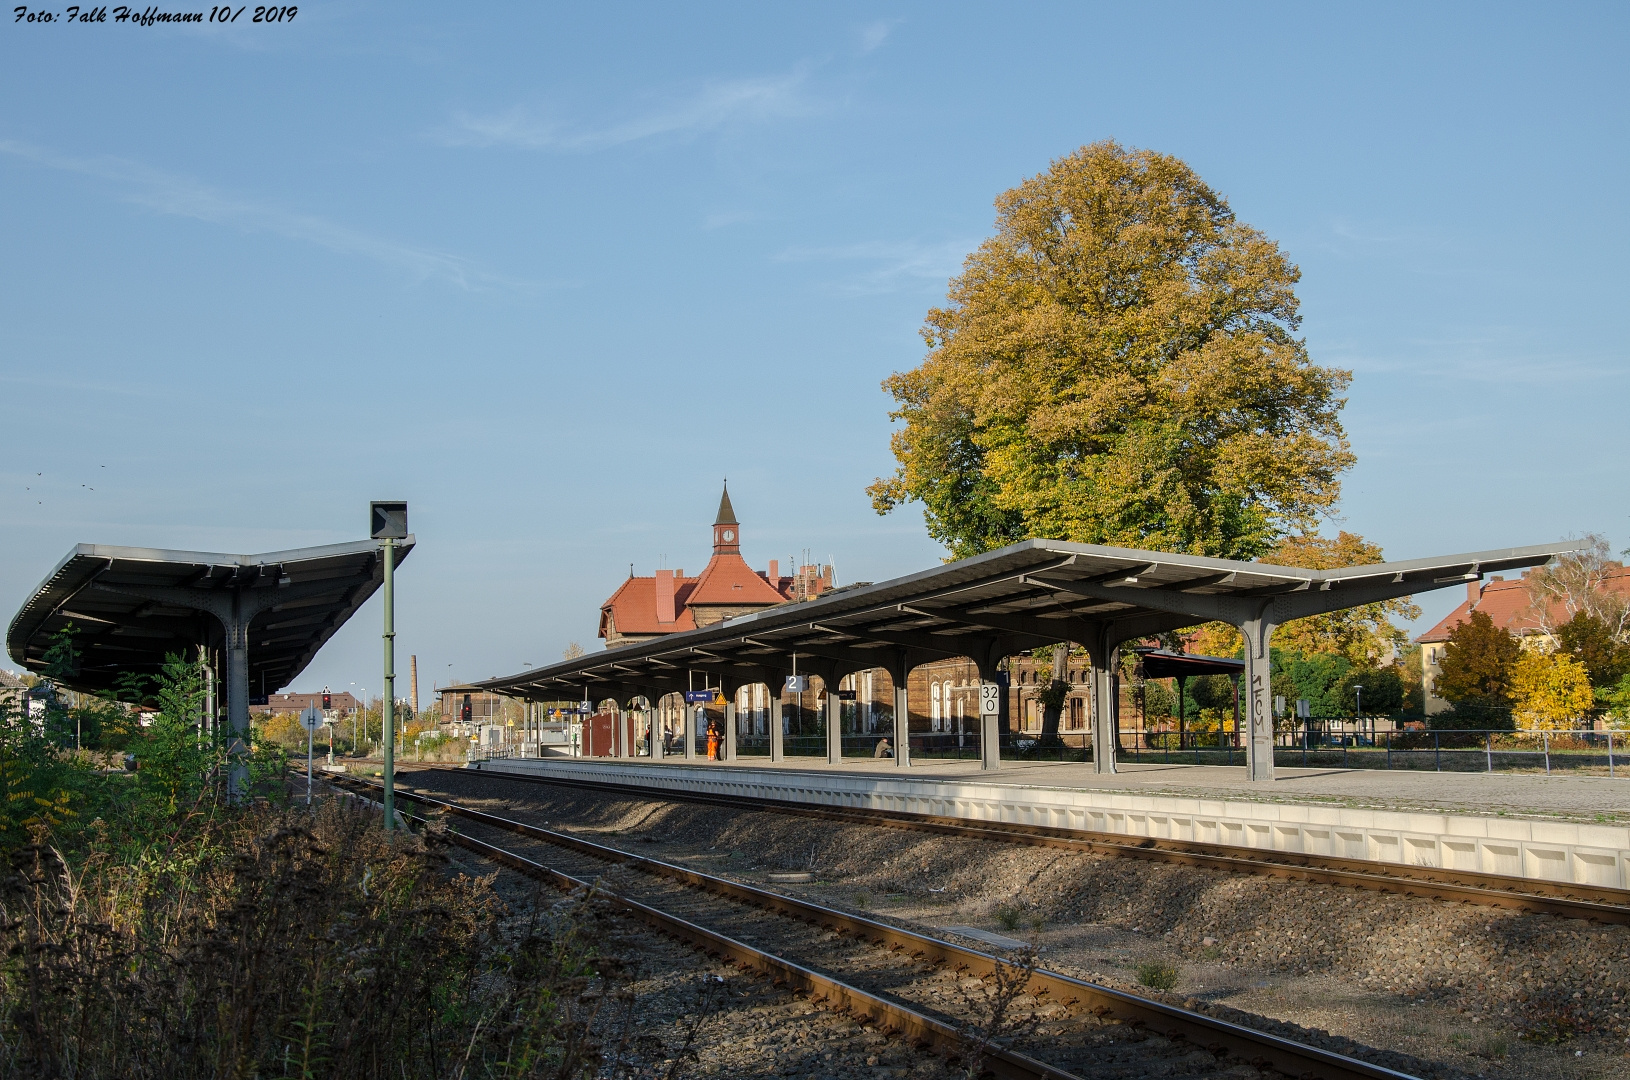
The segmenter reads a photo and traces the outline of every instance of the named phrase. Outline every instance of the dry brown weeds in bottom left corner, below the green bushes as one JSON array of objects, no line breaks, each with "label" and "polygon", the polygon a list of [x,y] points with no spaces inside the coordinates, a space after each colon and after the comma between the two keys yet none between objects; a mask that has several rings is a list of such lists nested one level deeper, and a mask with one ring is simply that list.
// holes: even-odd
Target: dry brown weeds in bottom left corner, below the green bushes
[{"label": "dry brown weeds in bottom left corner, below the green bushes", "polygon": [[590,896],[505,925],[491,876],[448,876],[434,836],[386,834],[337,800],[214,806],[165,837],[104,824],[90,850],[11,852],[3,1075],[474,1080],[530,1075],[515,1060],[598,1064],[588,1021],[619,1007],[624,979],[598,955]]}]

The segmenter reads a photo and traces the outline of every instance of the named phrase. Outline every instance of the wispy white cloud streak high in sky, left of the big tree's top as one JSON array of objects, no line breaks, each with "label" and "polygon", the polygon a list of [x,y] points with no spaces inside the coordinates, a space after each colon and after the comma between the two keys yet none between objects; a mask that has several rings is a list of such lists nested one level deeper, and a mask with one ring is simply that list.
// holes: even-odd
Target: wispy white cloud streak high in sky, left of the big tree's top
[{"label": "wispy white cloud streak high in sky, left of the big tree's top", "polygon": [[729,124],[805,116],[815,106],[804,94],[804,83],[802,70],[774,78],[712,81],[652,109],[590,127],[559,121],[538,106],[513,106],[491,116],[460,112],[438,137],[458,147],[592,153],[662,135],[693,137]]}]

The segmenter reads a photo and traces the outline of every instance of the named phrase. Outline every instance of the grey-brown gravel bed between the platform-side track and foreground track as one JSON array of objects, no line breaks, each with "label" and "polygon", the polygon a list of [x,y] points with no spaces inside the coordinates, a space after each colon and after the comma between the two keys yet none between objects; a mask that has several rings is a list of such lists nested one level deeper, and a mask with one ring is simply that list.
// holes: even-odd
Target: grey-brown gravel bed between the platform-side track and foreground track
[{"label": "grey-brown gravel bed between the platform-side track and foreground track", "polygon": [[1630,927],[453,770],[401,782],[755,885],[813,868],[789,891],[903,925],[1040,922],[1050,968],[1149,994],[1138,969],[1167,964],[1177,1003],[1444,1075],[1630,1075]]}]

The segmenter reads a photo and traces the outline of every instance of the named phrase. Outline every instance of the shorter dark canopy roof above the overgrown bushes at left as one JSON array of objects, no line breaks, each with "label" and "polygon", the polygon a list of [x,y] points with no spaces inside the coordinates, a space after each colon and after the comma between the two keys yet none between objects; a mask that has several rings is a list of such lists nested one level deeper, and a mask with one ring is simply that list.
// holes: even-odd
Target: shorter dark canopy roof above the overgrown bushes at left
[{"label": "shorter dark canopy roof above the overgrown bushes at left", "polygon": [[[412,536],[396,541],[396,560],[412,546]],[[80,673],[64,684],[112,689],[124,671],[155,673],[168,653],[220,642],[220,622],[199,608],[235,591],[259,599],[261,590],[279,590],[282,598],[249,622],[249,687],[267,694],[293,681],[380,586],[380,551],[378,541],[259,555],[80,544],[11,619],[7,650],[41,671],[51,637],[72,622],[80,630]],[[189,603],[155,599],[166,593]]]}]

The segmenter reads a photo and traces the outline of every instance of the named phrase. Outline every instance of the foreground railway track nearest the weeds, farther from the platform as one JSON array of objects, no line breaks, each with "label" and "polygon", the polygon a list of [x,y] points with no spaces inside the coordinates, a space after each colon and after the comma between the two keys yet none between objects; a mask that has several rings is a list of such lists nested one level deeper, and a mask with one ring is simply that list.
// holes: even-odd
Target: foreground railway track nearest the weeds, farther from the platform
[{"label": "foreground railway track nearest the weeds, farther from the platform", "polygon": [[[372,797],[378,785],[334,779]],[[559,888],[598,881],[631,915],[738,966],[941,1052],[967,1051],[967,979],[989,979],[1011,958],[810,904],[738,881],[645,858],[575,836],[398,788],[398,798],[458,818],[453,842]],[[473,832],[504,832],[504,845]],[[499,837],[502,839],[502,837]],[[1033,969],[1025,992],[1045,1015],[1027,1052],[993,1047],[1004,1080],[1087,1077],[1286,1077],[1405,1080],[1408,1073],[1255,1031],[1203,1013]]]}]

